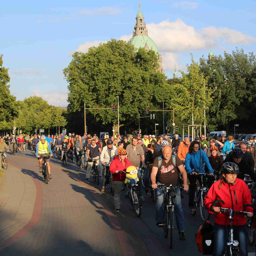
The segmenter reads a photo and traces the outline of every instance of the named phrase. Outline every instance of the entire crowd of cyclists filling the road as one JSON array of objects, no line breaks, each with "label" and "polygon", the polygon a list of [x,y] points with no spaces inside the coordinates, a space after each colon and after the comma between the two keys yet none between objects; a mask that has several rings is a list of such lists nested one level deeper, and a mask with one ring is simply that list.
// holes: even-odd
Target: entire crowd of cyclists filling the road
[{"label": "entire crowd of cyclists filling the road", "polygon": [[[144,196],[148,194],[150,187],[155,189],[157,226],[163,223],[165,197],[162,189],[157,188],[157,186],[160,184],[176,186],[181,182],[180,177],[182,177],[184,190],[188,190],[189,182],[188,207],[193,212],[195,211],[193,200],[196,176],[206,172],[210,174],[210,178],[207,180],[207,190],[209,191],[205,199],[205,207],[209,212],[211,212],[210,206],[216,198],[225,201],[226,207],[234,210],[243,210],[245,206],[246,211],[253,212],[253,208],[250,205],[250,190],[243,179],[244,175],[248,174],[253,181],[256,181],[256,174],[254,172],[256,167],[254,138],[251,137],[246,143],[239,143],[238,147],[235,147],[232,136],[226,138],[224,135],[221,135],[218,139],[211,138],[209,143],[204,134],[200,137],[195,137],[195,140],[191,143],[188,137],[185,137],[184,140],[180,140],[178,137],[178,134],[175,134],[171,141],[167,134],[157,137],[154,135],[144,135],[142,137],[141,134],[136,136],[120,136],[116,133],[111,137],[105,134],[104,141],[101,143],[96,134],[91,136],[91,134],[85,133],[81,136],[69,133],[56,136],[48,135],[47,137],[44,135],[40,137],[36,134],[31,136],[21,135],[19,137],[13,135],[11,138],[5,136],[4,141],[9,143],[11,150],[14,148],[12,144],[16,145],[17,143],[23,143],[23,145],[27,143],[27,147],[24,146],[24,151],[25,148],[33,149],[33,147],[36,147],[36,155],[39,158],[40,166],[40,154],[48,153],[52,156],[52,151],[56,151],[57,157],[62,159],[63,150],[67,149],[74,151],[76,161],[78,162],[79,154],[81,154],[81,151],[84,151],[85,181],[88,181],[90,178],[91,161],[94,159],[100,167],[100,178],[103,179],[101,192],[108,189],[109,184],[106,184],[108,170],[112,173],[115,186],[114,206],[117,212],[120,211],[120,195],[124,189],[125,180],[125,173],[120,173],[120,171],[125,171],[129,166],[135,166],[138,170],[140,201],[145,200]],[[101,164],[99,164],[99,161]],[[105,165],[106,163],[109,163],[110,166]],[[146,168],[145,190],[141,186],[142,167]],[[39,172],[41,172],[41,167]],[[232,193],[234,193],[234,197],[232,197]],[[176,194],[174,205],[177,228],[180,239],[185,240],[185,222],[181,200],[183,196],[180,189],[176,190]],[[216,240],[219,241],[216,243],[218,248],[215,246],[214,255],[223,255],[223,242],[220,238],[225,240],[222,237],[225,232],[222,231],[228,222],[228,216],[219,213],[220,206],[214,207],[216,213],[215,224],[218,227],[215,234],[218,234]],[[241,216],[239,221],[237,220],[233,225],[236,226],[238,239],[244,244],[241,248],[242,254],[247,255],[247,241],[243,239],[243,235],[246,233],[245,218]]]}]

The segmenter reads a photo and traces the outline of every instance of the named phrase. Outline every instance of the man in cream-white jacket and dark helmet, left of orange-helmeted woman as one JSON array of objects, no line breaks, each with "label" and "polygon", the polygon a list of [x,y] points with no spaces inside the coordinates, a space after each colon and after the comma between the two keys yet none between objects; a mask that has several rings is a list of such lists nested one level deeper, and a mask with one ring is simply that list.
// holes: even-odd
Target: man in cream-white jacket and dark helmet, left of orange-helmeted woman
[{"label": "man in cream-white jacket and dark helmet, left of orange-helmeted woman", "polygon": [[[118,142],[119,143],[119,142]],[[100,154],[100,161],[101,164],[103,164],[103,186],[101,189],[101,192],[105,191],[105,183],[106,183],[106,175],[107,175],[107,168],[109,168],[108,166],[105,166],[104,164],[107,162],[109,163],[110,161],[112,161],[114,159],[115,156],[115,151],[116,151],[116,146],[113,145],[113,141],[112,140],[108,140],[107,141],[107,146],[102,148],[102,152]],[[108,187],[106,187],[108,188]]]}]

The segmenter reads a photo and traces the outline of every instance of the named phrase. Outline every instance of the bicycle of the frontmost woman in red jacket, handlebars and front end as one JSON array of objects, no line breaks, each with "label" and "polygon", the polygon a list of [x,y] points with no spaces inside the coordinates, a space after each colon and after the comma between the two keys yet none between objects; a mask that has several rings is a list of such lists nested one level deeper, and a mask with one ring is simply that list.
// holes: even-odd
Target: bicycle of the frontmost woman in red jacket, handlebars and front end
[{"label": "bicycle of the frontmost woman in red jacket, handlebars and front end", "polygon": [[[215,200],[212,205],[211,205],[211,211],[214,212],[213,207],[215,207],[219,202],[222,202],[222,204],[225,204],[223,200]],[[226,243],[226,249],[225,249],[225,256],[241,256],[241,250],[238,247],[239,242],[237,240],[234,240],[233,237],[233,214],[241,214],[244,216],[247,216],[247,214],[252,214],[252,212],[246,212],[246,211],[234,211],[230,208],[222,208],[220,207],[220,212],[221,213],[226,213],[229,212],[229,221],[230,221],[230,226],[229,226],[229,236],[227,238],[227,243]],[[227,225],[226,225],[227,226]]]}]

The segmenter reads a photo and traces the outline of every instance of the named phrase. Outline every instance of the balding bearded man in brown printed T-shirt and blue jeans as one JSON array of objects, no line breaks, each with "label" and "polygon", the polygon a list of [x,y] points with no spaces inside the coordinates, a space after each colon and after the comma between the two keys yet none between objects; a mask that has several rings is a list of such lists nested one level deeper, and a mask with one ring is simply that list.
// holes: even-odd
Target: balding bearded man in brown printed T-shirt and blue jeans
[{"label": "balding bearded man in brown printed T-shirt and blue jeans", "polygon": [[[166,141],[167,142],[167,141]],[[167,142],[168,143],[168,142]],[[161,164],[159,166],[159,161]],[[163,148],[163,156],[161,160],[159,157],[156,157],[152,172],[151,172],[151,182],[152,188],[156,188],[156,225],[163,223],[164,219],[164,198],[165,194],[162,191],[162,188],[157,188],[157,185],[164,184],[166,186],[173,186],[178,185],[178,170],[182,173],[183,180],[184,180],[184,190],[188,190],[187,184],[187,174],[185,168],[180,161],[180,159],[175,156],[176,164],[173,163],[172,157],[172,148],[169,145],[165,145]],[[159,166],[159,167],[158,167]],[[158,176],[158,182],[156,183],[156,175]],[[173,198],[174,203],[174,211],[179,231],[179,238],[180,240],[185,240],[186,236],[184,233],[185,230],[185,221],[184,221],[184,214],[181,204],[181,197],[180,197],[180,189],[176,188],[176,197]]]}]

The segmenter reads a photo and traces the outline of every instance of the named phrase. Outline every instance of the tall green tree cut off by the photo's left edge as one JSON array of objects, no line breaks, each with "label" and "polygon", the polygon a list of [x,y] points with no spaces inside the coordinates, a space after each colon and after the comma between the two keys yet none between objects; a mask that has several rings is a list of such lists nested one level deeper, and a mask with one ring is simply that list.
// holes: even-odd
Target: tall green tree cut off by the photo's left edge
[{"label": "tall green tree cut off by the photo's left edge", "polygon": [[16,97],[11,95],[8,83],[8,68],[3,67],[3,55],[0,55],[0,121],[9,121],[17,116]]}]

